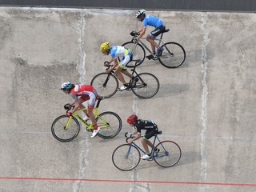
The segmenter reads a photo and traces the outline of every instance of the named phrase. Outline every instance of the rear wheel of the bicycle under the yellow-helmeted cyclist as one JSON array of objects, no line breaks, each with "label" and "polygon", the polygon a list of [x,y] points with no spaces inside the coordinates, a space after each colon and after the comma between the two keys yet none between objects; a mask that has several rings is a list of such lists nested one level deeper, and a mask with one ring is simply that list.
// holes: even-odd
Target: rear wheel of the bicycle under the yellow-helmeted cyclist
[{"label": "rear wheel of the bicycle under the yellow-helmeted cyclist", "polygon": [[136,77],[138,77],[138,82],[132,82],[134,86],[131,90],[138,98],[152,98],[158,93],[160,84],[153,74],[142,73]]}]

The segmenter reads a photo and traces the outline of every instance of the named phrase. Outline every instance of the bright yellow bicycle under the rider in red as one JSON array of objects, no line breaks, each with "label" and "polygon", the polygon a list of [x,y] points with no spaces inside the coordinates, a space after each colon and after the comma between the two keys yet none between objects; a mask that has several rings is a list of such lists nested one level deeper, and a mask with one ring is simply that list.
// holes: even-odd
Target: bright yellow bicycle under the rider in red
[{"label": "bright yellow bicycle under the rider in red", "polygon": [[[98,106],[102,101],[103,97],[98,97],[98,102],[94,107],[94,115],[98,128],[101,130],[98,132],[98,136],[101,138],[114,138],[122,129],[122,120],[112,111],[106,111],[102,114],[98,114]],[[74,106],[69,106],[66,112],[74,108]],[[86,110],[86,108],[78,109],[72,116],[66,117],[66,115],[61,115],[56,118],[51,126],[51,132],[60,142],[70,142],[76,138],[80,131],[80,122],[86,126],[86,130],[92,132],[94,127],[92,122],[88,120],[83,120],[83,118],[78,114],[79,111]]]}]

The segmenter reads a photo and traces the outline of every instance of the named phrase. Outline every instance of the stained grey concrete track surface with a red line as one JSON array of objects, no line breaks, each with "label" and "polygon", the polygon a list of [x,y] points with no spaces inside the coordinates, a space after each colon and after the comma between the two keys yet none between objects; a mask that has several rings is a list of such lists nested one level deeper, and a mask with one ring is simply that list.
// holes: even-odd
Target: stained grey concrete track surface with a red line
[{"label": "stained grey concrete track surface with a red line", "polygon": [[[0,7],[1,192],[254,192],[256,191],[256,15],[147,11],[166,23],[165,42],[179,42],[186,62],[167,69],[145,60],[161,84],[154,98],[131,91],[102,101],[100,112],[122,118],[115,138],[90,138],[82,129],[58,142],[51,123],[64,114],[64,81],[90,83],[109,58],[102,42],[121,45],[142,26],[134,10]],[[153,29],[148,29],[147,32]],[[114,167],[114,149],[131,131],[126,117],[153,119],[182,149],[176,166],[141,161]],[[140,142],[137,142],[140,144]]]}]

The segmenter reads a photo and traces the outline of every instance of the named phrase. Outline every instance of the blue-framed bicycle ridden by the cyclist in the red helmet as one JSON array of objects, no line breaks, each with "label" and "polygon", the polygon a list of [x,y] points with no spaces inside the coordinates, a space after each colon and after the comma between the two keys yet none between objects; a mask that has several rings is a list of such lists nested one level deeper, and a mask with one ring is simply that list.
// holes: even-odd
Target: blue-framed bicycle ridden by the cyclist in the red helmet
[{"label": "blue-framed bicycle ridden by the cyclist in the red helmet", "polygon": [[[160,141],[158,134],[162,134],[162,131],[158,131],[157,134],[154,134],[154,142],[150,154],[151,158],[147,159],[148,161],[154,160],[158,166],[162,167],[171,167],[178,163],[182,157],[182,150],[176,142],[172,141]],[[134,138],[135,136],[131,133],[126,133],[126,142],[129,138]],[[155,146],[156,141],[158,140],[158,145]],[[145,150],[142,150],[135,142],[130,144],[122,144],[118,146],[112,154],[112,162],[118,170],[133,170],[138,166],[138,163],[141,161],[141,153],[146,154]]]}]

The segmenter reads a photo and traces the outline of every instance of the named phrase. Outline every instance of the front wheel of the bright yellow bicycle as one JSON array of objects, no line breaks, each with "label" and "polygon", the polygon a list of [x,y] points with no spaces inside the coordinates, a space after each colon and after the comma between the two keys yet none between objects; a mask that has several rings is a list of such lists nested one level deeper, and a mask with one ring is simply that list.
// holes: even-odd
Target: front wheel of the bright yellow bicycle
[{"label": "front wheel of the bright yellow bicycle", "polygon": [[72,117],[69,125],[66,126],[68,119],[66,115],[59,116],[51,125],[51,133],[60,142],[70,142],[79,134],[80,124],[78,120]]}]

